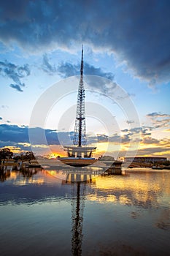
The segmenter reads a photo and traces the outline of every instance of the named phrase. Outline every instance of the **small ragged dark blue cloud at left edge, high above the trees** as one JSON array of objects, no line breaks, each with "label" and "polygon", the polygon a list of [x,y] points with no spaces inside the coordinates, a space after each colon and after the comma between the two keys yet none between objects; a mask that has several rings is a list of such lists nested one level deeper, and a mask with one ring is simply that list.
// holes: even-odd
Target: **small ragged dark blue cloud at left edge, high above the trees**
[{"label": "small ragged dark blue cloud at left edge, high above the trees", "polygon": [[25,83],[22,83],[20,79],[30,75],[30,69],[28,64],[17,66],[8,61],[0,61],[0,75],[10,78],[13,82],[15,82],[15,84],[10,84],[13,89],[23,91],[21,87],[24,87]]}]

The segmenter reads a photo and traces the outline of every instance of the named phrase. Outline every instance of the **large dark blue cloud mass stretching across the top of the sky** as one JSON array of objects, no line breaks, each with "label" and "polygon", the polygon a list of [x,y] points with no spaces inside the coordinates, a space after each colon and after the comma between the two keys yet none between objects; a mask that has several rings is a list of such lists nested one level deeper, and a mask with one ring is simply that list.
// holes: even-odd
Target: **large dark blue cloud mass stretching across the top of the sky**
[{"label": "large dark blue cloud mass stretching across the top of the sky", "polygon": [[0,39],[27,51],[90,44],[153,86],[169,81],[169,7],[169,0],[1,1]]}]

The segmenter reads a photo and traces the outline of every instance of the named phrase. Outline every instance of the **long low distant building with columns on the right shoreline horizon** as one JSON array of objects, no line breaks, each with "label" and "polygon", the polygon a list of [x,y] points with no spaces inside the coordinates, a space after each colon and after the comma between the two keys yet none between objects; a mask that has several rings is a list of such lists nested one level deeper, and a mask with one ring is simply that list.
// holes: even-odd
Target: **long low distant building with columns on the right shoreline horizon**
[{"label": "long low distant building with columns on the right shoreline horizon", "polygon": [[167,161],[166,157],[124,157],[125,162],[163,162]]}]

